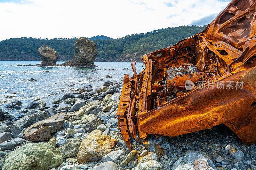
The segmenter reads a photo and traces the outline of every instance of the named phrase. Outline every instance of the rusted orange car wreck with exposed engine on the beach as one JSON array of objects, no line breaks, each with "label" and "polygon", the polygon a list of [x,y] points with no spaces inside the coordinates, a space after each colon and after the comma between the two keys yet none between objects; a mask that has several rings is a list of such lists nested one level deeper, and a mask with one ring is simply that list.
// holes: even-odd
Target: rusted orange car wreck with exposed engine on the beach
[{"label": "rusted orange car wreck with exposed engine on the beach", "polygon": [[145,69],[124,77],[116,113],[129,137],[174,137],[219,124],[256,142],[255,0],[233,0],[204,31],[145,54]]}]

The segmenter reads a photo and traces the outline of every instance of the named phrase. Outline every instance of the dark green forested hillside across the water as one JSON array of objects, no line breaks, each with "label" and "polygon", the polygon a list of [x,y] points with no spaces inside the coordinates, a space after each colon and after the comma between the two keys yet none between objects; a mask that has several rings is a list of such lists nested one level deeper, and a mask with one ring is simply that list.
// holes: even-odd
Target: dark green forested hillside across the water
[{"label": "dark green forested hillside across the water", "polygon": [[[111,39],[103,35],[89,39],[98,47],[95,61],[133,61],[141,58],[145,53],[170,46],[201,32],[205,27],[206,25],[178,26],[127,35],[119,39]],[[0,41],[0,60],[41,61],[37,49],[44,44],[57,52],[58,61],[67,61],[73,58],[76,39],[22,37]]]}]

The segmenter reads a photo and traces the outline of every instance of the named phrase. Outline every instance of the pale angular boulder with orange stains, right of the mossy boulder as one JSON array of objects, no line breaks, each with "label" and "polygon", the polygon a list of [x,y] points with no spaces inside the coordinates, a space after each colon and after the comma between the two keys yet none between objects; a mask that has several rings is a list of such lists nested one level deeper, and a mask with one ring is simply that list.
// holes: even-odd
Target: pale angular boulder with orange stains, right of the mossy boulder
[{"label": "pale angular boulder with orange stains, right of the mossy boulder", "polygon": [[94,162],[100,160],[104,155],[110,153],[115,147],[115,142],[110,136],[102,131],[93,130],[83,140],[77,154],[77,162]]}]

